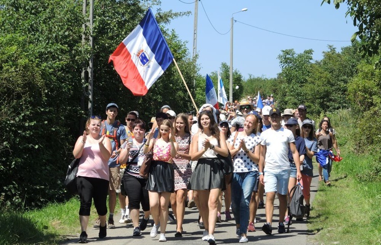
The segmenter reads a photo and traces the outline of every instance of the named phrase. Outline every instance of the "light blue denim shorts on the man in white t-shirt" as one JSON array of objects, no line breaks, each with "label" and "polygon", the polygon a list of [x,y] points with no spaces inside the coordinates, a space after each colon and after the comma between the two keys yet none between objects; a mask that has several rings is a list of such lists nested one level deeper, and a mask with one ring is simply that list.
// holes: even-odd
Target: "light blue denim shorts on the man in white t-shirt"
[{"label": "light blue denim shorts on the man in white t-shirt", "polygon": [[287,195],[289,192],[290,169],[265,170],[264,172],[265,192],[278,192]]}]

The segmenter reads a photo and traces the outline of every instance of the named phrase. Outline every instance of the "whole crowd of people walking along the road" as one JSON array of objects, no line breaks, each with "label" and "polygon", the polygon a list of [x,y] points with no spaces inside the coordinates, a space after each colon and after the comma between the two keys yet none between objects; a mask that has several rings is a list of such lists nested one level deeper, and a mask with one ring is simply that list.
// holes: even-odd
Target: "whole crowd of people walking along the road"
[{"label": "whole crowd of people walking along the road", "polygon": [[[262,231],[272,234],[275,196],[279,200],[277,231],[284,233],[284,225],[290,222],[288,194],[298,181],[309,217],[312,157],[320,155],[326,161],[319,166],[319,180],[330,186],[332,160],[321,152],[333,148],[340,154],[336,132],[326,116],[315,129],[303,104],[282,113],[272,95],[262,109],[256,108],[256,100],[248,97],[221,110],[205,104],[197,115],[176,113],[165,105],[148,125],[138,111],[130,111],[124,126],[116,120],[115,103],[106,106],[105,120],[90,116],[73,150],[74,157],[80,158],[79,243],[87,243],[92,200],[98,213],[93,227],[99,228],[100,238],[107,236],[107,228],[115,228],[119,200],[119,223],[132,223],[132,235],[141,236],[151,217],[150,236],[159,235],[158,241],[167,240],[168,220],[176,221],[175,237],[182,237],[185,207],[197,206],[201,239],[214,244],[223,196],[225,218],[232,219],[232,210],[239,242],[248,242],[247,232],[256,231],[257,209],[264,203]],[[139,171],[149,152],[153,157],[146,178]],[[228,173],[227,158],[233,162]]]}]

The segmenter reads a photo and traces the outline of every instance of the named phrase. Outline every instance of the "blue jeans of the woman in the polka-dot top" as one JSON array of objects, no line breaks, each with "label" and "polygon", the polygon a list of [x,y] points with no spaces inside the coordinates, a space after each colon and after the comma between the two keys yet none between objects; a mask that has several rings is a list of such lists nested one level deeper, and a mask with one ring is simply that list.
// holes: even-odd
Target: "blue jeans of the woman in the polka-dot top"
[{"label": "blue jeans of the woman in the polka-dot top", "polygon": [[246,234],[249,224],[251,193],[256,185],[258,171],[233,173],[231,184],[232,210],[240,232]]}]

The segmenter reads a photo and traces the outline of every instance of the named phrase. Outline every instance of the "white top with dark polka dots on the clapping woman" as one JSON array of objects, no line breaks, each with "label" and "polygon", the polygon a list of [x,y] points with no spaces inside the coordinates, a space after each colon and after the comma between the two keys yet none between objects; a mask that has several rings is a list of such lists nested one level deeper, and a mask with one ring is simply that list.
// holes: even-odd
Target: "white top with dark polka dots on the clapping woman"
[{"label": "white top with dark polka dots on the clapping woman", "polygon": [[[230,144],[233,144],[234,137],[237,133],[239,132],[236,131],[229,137],[228,142]],[[245,145],[247,149],[250,150],[251,152],[254,151],[256,145],[261,143],[260,137],[255,134],[250,134],[249,136],[246,136],[246,137],[242,137],[238,135],[234,143],[235,148],[239,147],[239,143],[241,142],[242,139],[245,139]],[[242,148],[233,157],[233,164],[234,164],[235,173],[258,171],[258,165],[251,161],[251,159],[247,156],[247,154],[243,151]]]}]

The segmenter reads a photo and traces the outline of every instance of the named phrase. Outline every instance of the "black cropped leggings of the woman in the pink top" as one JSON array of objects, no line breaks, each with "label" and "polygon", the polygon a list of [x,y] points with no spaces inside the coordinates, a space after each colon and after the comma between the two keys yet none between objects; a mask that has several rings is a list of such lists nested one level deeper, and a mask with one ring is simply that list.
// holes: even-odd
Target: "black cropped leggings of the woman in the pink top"
[{"label": "black cropped leggings of the woman in the pink top", "polygon": [[109,190],[109,181],[101,178],[77,177],[78,194],[81,200],[79,215],[89,216],[91,199],[94,199],[94,206],[98,215],[107,214],[107,193]]}]

